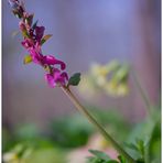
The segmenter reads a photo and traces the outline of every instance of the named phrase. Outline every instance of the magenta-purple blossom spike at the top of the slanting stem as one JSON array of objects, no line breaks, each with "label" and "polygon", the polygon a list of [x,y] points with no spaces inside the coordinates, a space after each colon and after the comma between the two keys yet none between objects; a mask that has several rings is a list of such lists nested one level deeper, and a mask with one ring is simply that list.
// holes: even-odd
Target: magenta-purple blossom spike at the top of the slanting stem
[{"label": "magenta-purple blossom spike at the top of the slanting stem", "polygon": [[51,87],[65,86],[68,80],[68,75],[64,72],[66,64],[56,59],[53,55],[43,55],[42,53],[42,45],[52,35],[44,35],[45,28],[39,26],[37,21],[33,23],[34,14],[25,11],[23,2],[9,0],[9,3],[13,14],[20,19],[19,28],[23,35],[21,44],[29,52],[29,55],[24,58],[25,63],[33,62],[41,65],[46,70],[45,79]]}]

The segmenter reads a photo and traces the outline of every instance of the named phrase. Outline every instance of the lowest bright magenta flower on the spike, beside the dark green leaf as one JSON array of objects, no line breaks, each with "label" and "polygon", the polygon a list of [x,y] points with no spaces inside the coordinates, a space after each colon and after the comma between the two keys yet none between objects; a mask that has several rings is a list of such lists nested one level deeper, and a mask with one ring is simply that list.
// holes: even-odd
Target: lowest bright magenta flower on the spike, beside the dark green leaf
[{"label": "lowest bright magenta flower on the spike, beside the dark green leaf", "polygon": [[47,80],[51,87],[55,87],[57,85],[66,85],[66,80],[68,80],[67,73],[61,73],[57,68],[53,68],[51,74],[45,75],[45,79]]}]

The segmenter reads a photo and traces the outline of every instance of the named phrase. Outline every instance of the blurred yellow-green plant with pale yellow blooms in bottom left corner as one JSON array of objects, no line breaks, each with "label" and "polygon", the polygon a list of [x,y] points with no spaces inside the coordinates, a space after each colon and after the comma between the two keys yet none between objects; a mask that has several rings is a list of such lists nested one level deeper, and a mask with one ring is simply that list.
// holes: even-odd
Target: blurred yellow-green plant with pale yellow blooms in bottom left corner
[{"label": "blurred yellow-green plant with pale yellow blooms in bottom left corner", "polygon": [[34,148],[32,144],[17,144],[3,154],[4,163],[65,163],[65,153],[56,148]]}]

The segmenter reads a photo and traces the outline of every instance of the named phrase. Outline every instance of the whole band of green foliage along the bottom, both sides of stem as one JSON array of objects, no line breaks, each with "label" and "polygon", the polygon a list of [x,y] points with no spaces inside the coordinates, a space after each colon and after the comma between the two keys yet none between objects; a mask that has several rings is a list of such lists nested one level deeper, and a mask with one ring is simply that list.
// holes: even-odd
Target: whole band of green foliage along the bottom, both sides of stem
[{"label": "whole band of green foliage along the bottom, both sides of stem", "polygon": [[[126,151],[137,160],[137,163],[161,162],[161,117],[157,110],[152,117],[132,126],[132,130],[116,111],[101,111],[93,107],[89,112],[106,129],[109,128],[116,141],[121,143],[127,140]],[[73,148],[86,145],[96,131],[79,113],[57,118],[50,127],[51,132],[45,135],[33,123],[18,126],[13,132],[3,129],[4,155],[7,154],[8,159],[25,160],[26,163],[43,163],[45,160],[47,163],[53,163],[53,160],[64,163],[67,152]],[[98,149],[90,150],[90,153],[93,155],[87,159],[88,163],[128,163],[122,155],[112,160]]]}]

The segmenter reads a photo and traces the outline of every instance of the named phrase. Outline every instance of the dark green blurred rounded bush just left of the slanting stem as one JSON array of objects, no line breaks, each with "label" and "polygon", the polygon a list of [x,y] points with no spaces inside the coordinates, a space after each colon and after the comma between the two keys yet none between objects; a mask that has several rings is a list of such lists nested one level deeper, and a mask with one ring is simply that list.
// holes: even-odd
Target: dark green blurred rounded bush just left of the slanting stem
[{"label": "dark green blurred rounded bush just left of the slanting stem", "polygon": [[76,148],[87,143],[93,127],[80,115],[55,119],[52,127],[52,139],[64,148]]}]

